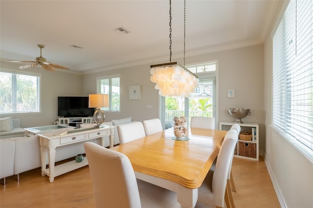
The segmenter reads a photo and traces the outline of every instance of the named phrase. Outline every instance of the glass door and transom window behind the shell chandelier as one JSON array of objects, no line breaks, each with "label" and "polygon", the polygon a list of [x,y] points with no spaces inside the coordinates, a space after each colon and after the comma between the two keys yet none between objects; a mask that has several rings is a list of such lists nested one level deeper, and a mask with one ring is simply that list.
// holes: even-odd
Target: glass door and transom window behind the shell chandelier
[{"label": "glass door and transom window behind the shell chandelier", "polygon": [[159,118],[164,129],[173,126],[173,118],[186,116],[215,117],[216,62],[186,66],[199,76],[192,98],[159,96]]}]

